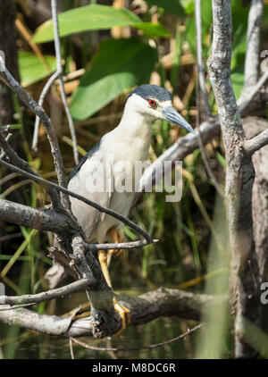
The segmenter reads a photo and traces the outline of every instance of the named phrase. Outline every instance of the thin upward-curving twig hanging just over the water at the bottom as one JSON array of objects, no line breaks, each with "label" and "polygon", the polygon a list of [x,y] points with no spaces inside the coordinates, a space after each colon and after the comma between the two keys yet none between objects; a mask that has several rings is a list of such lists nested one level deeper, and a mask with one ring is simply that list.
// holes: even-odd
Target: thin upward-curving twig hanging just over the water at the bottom
[{"label": "thin upward-curving twig hanging just over the water at the bottom", "polygon": [[188,329],[188,331],[184,332],[183,334],[180,334],[178,337],[176,338],[172,338],[172,339],[169,339],[169,340],[166,340],[166,341],[162,341],[160,343],[156,343],[156,344],[150,344],[149,346],[143,346],[143,347],[135,347],[135,348],[106,348],[106,347],[94,347],[94,346],[89,346],[87,343],[84,343],[83,341],[80,341],[78,339],[75,339],[75,338],[70,338],[74,343],[77,343],[79,344],[80,346],[84,347],[84,348],[87,348],[87,349],[91,349],[93,351],[125,351],[125,352],[128,352],[128,351],[139,351],[141,349],[152,349],[152,348],[157,348],[157,347],[163,347],[163,346],[166,346],[167,344],[171,344],[173,343],[174,341],[177,341],[177,340],[180,340],[182,338],[185,338],[188,334],[190,334],[191,332],[194,332],[194,331],[197,331],[198,329],[200,329],[202,326],[204,325],[204,323],[199,323],[197,324],[197,326],[193,327],[192,329]]}]

